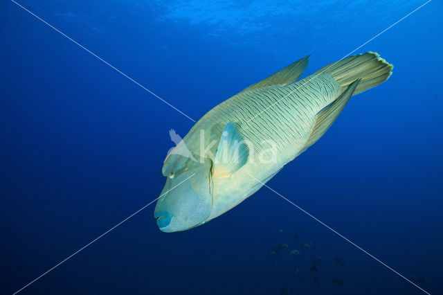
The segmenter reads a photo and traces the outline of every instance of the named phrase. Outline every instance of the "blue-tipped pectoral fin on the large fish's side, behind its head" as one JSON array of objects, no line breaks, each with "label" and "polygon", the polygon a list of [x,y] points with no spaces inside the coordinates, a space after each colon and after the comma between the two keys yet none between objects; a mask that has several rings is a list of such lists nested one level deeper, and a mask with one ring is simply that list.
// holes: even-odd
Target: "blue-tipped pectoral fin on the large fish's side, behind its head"
[{"label": "blue-tipped pectoral fin on the large fish's side, behind its head", "polygon": [[213,165],[213,177],[230,177],[248,161],[249,149],[237,125],[229,122],[223,129]]}]

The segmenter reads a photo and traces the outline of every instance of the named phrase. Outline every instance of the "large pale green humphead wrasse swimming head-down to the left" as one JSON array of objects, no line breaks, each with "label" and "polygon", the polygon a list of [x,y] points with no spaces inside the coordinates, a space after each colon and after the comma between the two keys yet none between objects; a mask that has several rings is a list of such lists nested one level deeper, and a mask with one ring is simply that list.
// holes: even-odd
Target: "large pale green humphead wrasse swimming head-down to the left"
[{"label": "large pale green humphead wrasse swimming head-down to the left", "polygon": [[170,150],[154,208],[161,231],[201,226],[242,203],[316,143],[352,96],[388,80],[393,69],[369,51],[298,80],[308,59],[221,102]]}]

